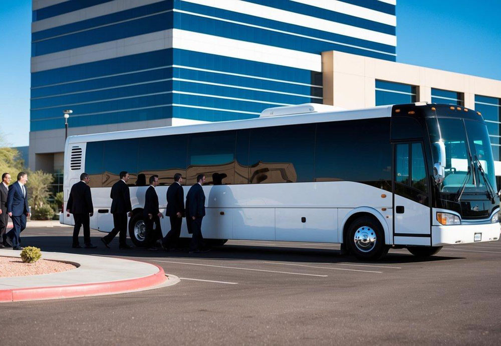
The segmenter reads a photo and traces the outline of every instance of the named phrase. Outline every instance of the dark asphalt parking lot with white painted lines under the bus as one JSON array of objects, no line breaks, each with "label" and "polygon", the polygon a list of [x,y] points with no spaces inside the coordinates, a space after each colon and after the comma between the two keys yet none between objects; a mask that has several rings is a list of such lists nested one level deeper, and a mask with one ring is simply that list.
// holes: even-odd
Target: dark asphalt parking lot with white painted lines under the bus
[{"label": "dark asphalt parking lot with white painted lines under the bus", "polygon": [[[228,241],[208,253],[71,248],[72,228],[28,228],[23,245],[123,256],[181,282],[161,289],[0,305],[0,344],[499,344],[501,242],[379,262],[339,245]],[[116,242],[116,243],[115,243]]]}]

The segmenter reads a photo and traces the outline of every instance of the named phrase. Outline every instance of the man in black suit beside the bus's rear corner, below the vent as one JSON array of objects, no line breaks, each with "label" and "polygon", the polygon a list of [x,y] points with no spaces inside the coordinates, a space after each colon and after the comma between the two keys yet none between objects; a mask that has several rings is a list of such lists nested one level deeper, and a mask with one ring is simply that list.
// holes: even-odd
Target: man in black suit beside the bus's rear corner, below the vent
[{"label": "man in black suit beside the bus's rear corner, below the vent", "polygon": [[91,181],[89,174],[80,174],[80,181],[71,186],[70,197],[66,205],[66,211],[71,212],[75,220],[73,248],[82,247],[78,242],[78,233],[80,233],[82,225],[84,226],[85,248],[97,247],[91,243],[90,217],[94,214],[94,206],[92,205],[91,188],[88,185],[89,181]]}]

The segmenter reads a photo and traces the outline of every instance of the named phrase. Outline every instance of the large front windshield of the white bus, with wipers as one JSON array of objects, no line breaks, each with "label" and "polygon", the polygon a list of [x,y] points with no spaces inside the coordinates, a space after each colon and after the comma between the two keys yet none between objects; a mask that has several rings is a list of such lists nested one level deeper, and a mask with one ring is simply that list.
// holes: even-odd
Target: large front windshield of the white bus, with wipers
[{"label": "large front windshield of the white bus, with wipers", "polygon": [[[440,191],[494,194],[494,161],[485,124],[460,118],[428,120],[431,142],[441,140],[445,145],[445,178]],[[437,162],[435,149],[432,154],[433,162]]]}]

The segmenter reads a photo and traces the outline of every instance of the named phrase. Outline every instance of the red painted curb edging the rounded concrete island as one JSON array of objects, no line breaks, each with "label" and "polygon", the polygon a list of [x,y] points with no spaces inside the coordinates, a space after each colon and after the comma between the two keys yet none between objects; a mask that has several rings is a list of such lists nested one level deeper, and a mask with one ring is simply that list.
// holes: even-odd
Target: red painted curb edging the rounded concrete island
[{"label": "red painted curb edging the rounded concrete island", "polygon": [[48,287],[27,287],[0,289],[1,301],[20,301],[20,300],[40,300],[40,299],[58,299],[89,295],[101,295],[111,293],[125,293],[137,289],[148,288],[159,285],[167,279],[163,268],[157,264],[149,263],[158,268],[158,272],[152,275],[131,278],[126,280],[96,282],[83,284],[70,284],[62,286]]}]

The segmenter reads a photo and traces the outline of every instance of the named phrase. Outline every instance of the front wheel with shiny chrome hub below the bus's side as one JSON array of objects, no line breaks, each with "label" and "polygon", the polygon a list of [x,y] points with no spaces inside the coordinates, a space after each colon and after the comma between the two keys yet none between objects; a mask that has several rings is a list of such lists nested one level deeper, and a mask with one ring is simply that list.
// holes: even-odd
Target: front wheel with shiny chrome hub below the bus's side
[{"label": "front wheel with shiny chrome hub below the bus's side", "polygon": [[350,251],[359,259],[380,259],[388,253],[390,248],[385,244],[381,223],[370,216],[354,220],[348,227],[347,235],[345,242],[348,243]]}]

